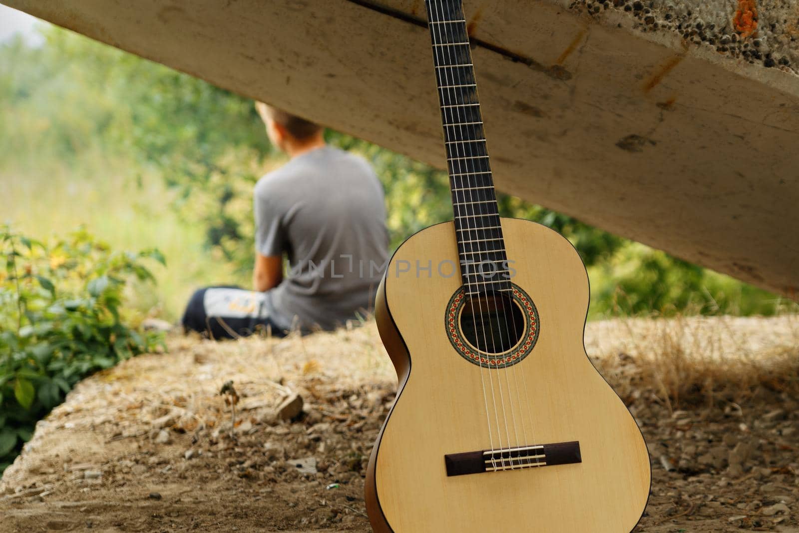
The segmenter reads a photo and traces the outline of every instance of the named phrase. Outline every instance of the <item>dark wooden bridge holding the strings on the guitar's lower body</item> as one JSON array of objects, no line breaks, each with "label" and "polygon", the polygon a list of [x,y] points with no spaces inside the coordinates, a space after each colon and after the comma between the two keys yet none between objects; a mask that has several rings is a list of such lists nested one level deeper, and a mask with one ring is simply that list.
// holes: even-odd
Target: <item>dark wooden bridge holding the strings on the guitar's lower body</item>
[{"label": "dark wooden bridge holding the strings on the guitar's lower body", "polygon": [[580,443],[535,444],[444,455],[447,476],[582,463]]}]

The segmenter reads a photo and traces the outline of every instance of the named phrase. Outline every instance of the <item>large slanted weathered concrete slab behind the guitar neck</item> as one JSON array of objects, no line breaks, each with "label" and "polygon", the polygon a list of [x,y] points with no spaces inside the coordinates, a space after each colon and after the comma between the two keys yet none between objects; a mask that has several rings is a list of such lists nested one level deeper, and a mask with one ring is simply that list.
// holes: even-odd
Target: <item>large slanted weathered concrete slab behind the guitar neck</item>
[{"label": "large slanted weathered concrete slab behind the guitar neck", "polygon": [[[421,0],[2,0],[444,166]],[[797,0],[466,0],[500,189],[799,287]]]}]

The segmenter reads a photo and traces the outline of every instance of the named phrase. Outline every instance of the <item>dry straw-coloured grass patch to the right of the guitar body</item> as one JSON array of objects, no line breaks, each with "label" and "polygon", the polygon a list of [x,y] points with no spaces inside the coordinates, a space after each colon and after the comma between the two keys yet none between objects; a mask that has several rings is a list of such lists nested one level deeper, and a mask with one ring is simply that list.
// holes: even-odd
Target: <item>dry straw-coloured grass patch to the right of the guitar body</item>
[{"label": "dry straw-coloured grass patch to the right of the guitar body", "polygon": [[609,320],[589,324],[586,348],[622,398],[653,391],[670,411],[799,392],[799,315]]}]

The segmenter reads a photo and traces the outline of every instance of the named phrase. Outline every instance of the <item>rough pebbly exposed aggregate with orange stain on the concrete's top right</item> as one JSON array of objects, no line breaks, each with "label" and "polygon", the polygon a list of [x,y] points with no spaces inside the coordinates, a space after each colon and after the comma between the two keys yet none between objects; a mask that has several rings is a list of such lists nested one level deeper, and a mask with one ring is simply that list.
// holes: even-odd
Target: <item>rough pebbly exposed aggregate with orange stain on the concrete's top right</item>
[{"label": "rough pebbly exposed aggregate with orange stain on the concrete's top right", "polygon": [[799,0],[574,0],[572,10],[634,17],[642,32],[678,32],[687,45],[799,74]]}]

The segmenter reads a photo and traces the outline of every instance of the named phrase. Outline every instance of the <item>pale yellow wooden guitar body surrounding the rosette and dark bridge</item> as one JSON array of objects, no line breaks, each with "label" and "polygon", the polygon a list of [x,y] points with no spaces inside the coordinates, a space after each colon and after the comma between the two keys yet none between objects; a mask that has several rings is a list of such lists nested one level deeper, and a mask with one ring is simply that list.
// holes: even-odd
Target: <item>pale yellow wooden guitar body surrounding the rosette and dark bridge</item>
[{"label": "pale yellow wooden guitar body surrounding the rosette and dark bridge", "polygon": [[[540,333],[525,360],[491,372],[495,379],[501,372],[516,372],[515,380],[502,383],[525,384],[527,394],[520,392],[524,400],[514,403],[511,428],[520,432],[521,420],[526,421],[526,444],[578,440],[582,463],[447,477],[444,455],[490,447],[485,373],[481,383],[481,372],[488,371],[459,356],[443,327],[460,278],[443,277],[436,266],[457,264],[458,252],[454,226],[435,225],[396,251],[378,291],[377,324],[400,389],[369,461],[366,502],[372,527],[628,533],[646,507],[650,460],[633,417],[582,345],[585,267],[572,245],[551,229],[507,218],[502,226],[507,257],[515,261],[513,281],[534,300]],[[417,276],[416,261],[422,268],[431,261],[431,275],[421,270]],[[410,272],[398,273],[407,265]],[[522,391],[509,389],[506,404],[518,397],[517,390]],[[504,415],[510,412],[508,405]],[[503,417],[499,408],[496,413]],[[507,444],[504,435],[503,427]],[[511,437],[510,444],[520,440]]]}]

